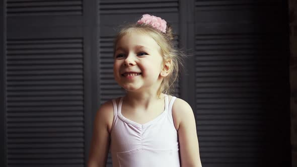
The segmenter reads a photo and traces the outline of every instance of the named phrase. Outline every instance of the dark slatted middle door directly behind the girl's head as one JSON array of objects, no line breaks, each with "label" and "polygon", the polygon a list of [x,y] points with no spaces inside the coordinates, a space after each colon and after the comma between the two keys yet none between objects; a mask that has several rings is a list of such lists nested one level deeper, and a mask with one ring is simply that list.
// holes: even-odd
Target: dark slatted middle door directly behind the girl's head
[{"label": "dark slatted middle door directly behind the girl's head", "polygon": [[[179,33],[179,6],[178,1],[100,1],[100,102],[104,103],[124,95],[124,91],[113,78],[113,39],[119,30],[119,25],[134,23],[143,14],[161,17],[172,24],[176,34]],[[178,39],[176,43],[178,43]],[[178,90],[179,90],[178,85]],[[175,95],[179,97],[179,92]],[[108,156],[108,165],[111,166],[111,155]]]}]

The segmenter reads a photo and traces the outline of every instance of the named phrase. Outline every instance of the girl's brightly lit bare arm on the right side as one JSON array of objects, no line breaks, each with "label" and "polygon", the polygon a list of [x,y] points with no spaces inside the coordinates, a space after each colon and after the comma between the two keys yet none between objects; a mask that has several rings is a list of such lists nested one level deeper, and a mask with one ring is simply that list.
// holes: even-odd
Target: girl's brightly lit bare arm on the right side
[{"label": "girl's brightly lit bare arm on the right side", "polygon": [[182,167],[201,167],[196,123],[191,106],[176,99],[172,107],[174,124],[178,130]]}]

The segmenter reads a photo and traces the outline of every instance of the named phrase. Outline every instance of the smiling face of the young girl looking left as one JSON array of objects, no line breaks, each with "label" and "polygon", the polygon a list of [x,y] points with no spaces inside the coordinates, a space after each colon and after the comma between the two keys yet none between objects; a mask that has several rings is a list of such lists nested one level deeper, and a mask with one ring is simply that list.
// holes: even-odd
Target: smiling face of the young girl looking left
[{"label": "smiling face of the young girl looking left", "polygon": [[150,36],[131,32],[117,43],[113,73],[127,91],[158,90],[162,76],[161,48]]}]

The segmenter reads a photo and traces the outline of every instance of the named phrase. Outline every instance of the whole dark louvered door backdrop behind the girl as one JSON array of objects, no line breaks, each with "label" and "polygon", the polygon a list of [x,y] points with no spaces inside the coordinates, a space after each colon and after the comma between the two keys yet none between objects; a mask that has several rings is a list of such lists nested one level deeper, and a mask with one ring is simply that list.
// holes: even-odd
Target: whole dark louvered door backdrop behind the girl
[{"label": "whole dark louvered door backdrop behind the girl", "polygon": [[194,111],[202,166],[291,166],[287,5],[1,1],[0,166],[86,166],[96,111],[123,95],[113,37],[142,14],[172,24],[192,55],[176,96]]}]

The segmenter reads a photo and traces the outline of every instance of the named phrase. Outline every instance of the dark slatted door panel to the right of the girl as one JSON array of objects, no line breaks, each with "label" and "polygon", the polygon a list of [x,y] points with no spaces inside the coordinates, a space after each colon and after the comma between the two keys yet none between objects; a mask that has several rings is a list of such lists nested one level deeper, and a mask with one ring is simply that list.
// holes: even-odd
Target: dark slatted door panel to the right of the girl
[{"label": "dark slatted door panel to the right of the girl", "polygon": [[193,6],[203,167],[290,166],[286,3],[197,0]]}]

